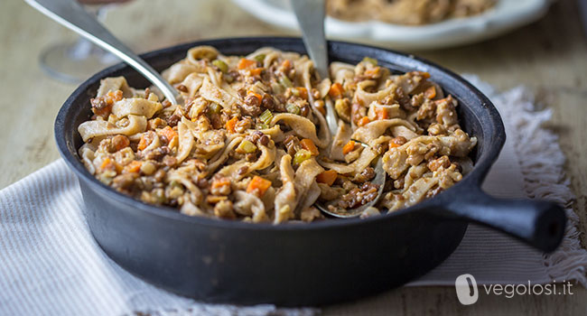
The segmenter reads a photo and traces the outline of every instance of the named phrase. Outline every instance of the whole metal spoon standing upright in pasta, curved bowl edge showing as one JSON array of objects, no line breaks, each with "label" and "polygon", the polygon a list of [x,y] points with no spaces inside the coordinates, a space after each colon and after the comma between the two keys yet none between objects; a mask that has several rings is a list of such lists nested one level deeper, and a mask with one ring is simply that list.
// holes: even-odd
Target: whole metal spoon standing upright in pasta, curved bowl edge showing
[{"label": "whole metal spoon standing upright in pasta, curved bowl edge showing", "polygon": [[[314,63],[314,69],[318,72],[322,79],[329,78],[328,45],[326,43],[326,37],[324,36],[324,16],[326,10],[324,0],[290,0],[290,4],[293,7],[293,12],[295,13],[298,23],[300,24],[300,28],[302,29],[303,43]],[[336,131],[338,129],[338,119],[336,117],[334,107],[332,106],[332,102],[325,102],[325,104],[326,123],[328,125],[328,129],[331,131],[332,139],[334,138],[334,135],[336,135]],[[328,209],[326,205],[322,205],[321,203],[315,203],[314,205],[323,213],[333,217],[358,217],[363,212],[363,210],[375,205],[383,194],[383,188],[386,184],[386,172],[383,170],[383,163],[381,158],[377,160],[375,174],[375,179],[373,179],[371,183],[377,184],[379,186],[379,190],[377,191],[377,197],[367,204],[362,205],[357,209],[349,209],[349,212],[333,212]]]}]

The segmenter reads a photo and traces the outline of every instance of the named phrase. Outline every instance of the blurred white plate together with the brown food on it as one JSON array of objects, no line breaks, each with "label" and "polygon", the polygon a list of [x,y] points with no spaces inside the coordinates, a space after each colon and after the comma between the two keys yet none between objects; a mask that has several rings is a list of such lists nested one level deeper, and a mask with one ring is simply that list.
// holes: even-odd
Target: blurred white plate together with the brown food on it
[{"label": "blurred white plate together with the brown food on it", "polygon": [[[329,14],[325,29],[329,39],[385,45],[396,50],[431,50],[480,42],[536,21],[552,3],[552,0],[326,1]],[[298,29],[288,0],[233,2],[266,23]]]}]

